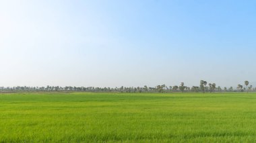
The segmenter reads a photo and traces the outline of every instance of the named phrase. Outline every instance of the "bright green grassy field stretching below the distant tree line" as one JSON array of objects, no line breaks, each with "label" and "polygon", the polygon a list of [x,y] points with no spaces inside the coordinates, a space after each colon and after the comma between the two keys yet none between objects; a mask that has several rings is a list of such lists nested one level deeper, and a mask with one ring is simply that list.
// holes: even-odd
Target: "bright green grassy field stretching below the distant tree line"
[{"label": "bright green grassy field stretching below the distant tree line", "polygon": [[256,142],[256,93],[2,93],[0,142]]}]

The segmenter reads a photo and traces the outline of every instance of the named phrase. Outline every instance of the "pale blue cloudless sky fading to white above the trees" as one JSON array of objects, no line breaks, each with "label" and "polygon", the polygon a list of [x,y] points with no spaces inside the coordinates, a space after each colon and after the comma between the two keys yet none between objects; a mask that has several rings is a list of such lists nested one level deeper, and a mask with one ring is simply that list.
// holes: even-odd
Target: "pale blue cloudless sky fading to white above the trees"
[{"label": "pale blue cloudless sky fading to white above the trees", "polygon": [[256,86],[256,1],[0,1],[0,86]]}]

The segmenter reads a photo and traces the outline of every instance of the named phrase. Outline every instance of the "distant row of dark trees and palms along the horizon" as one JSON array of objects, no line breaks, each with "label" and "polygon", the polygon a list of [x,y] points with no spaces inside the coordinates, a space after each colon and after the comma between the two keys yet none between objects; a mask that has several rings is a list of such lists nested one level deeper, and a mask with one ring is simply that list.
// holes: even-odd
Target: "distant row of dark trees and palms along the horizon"
[{"label": "distant row of dark trees and palms along the horizon", "polygon": [[201,80],[199,86],[187,87],[185,83],[181,83],[180,86],[166,86],[166,85],[157,85],[156,87],[60,87],[60,86],[46,86],[46,87],[0,87],[0,92],[23,92],[23,91],[79,91],[79,92],[121,92],[121,93],[169,93],[169,92],[255,92],[256,88],[253,88],[253,85],[249,85],[249,81],[245,81],[245,86],[237,85],[237,87],[224,87],[223,89],[220,86],[216,86],[216,83],[208,83],[207,81]]}]

